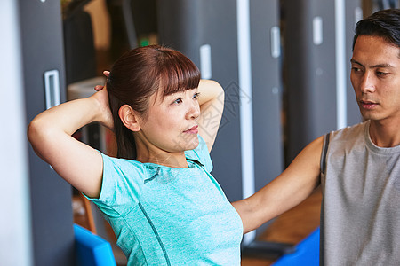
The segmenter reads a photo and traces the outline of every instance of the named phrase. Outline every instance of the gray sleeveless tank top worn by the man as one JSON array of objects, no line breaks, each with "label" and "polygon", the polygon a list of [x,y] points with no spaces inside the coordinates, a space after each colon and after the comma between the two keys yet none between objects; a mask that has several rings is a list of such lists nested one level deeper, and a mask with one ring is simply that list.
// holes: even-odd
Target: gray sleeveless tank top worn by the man
[{"label": "gray sleeveless tank top worn by the man", "polygon": [[322,265],[400,265],[400,145],[374,145],[369,126],[333,131],[324,145]]}]

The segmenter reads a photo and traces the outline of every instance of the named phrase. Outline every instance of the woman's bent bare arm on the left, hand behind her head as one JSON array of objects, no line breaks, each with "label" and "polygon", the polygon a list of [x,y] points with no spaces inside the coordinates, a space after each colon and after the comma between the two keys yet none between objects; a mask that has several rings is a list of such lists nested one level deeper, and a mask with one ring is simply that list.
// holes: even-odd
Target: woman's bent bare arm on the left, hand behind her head
[{"label": "woman's bent bare arm on the left, hand behind her head", "polygon": [[112,128],[107,90],[39,113],[28,126],[28,139],[37,155],[69,184],[91,198],[100,195],[101,154],[72,134],[91,122]]}]

